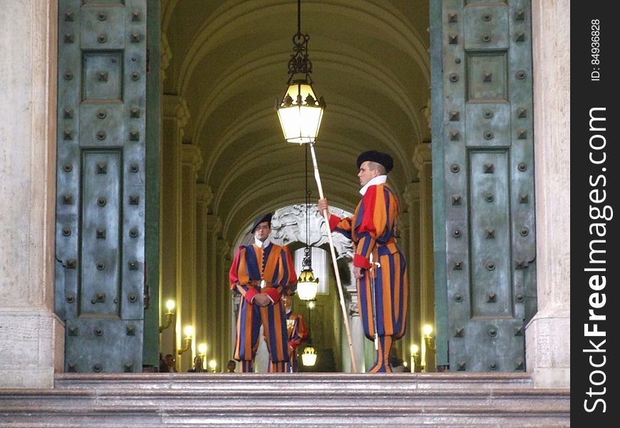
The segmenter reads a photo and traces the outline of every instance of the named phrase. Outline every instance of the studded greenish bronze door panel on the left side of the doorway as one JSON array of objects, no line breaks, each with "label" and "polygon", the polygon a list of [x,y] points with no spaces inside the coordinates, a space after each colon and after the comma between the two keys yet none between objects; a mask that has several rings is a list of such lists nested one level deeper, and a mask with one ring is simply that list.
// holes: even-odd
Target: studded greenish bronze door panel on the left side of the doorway
[{"label": "studded greenish bronze door panel on the left side of the doorway", "polygon": [[140,372],[146,0],[61,0],[56,313],[65,370]]}]

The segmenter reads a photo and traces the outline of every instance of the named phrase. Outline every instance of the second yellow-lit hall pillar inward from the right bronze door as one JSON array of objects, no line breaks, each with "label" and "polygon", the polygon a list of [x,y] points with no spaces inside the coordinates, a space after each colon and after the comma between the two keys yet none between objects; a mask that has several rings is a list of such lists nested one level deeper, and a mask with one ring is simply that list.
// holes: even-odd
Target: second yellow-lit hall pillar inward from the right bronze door
[{"label": "second yellow-lit hall pillar inward from the right bronze door", "polygon": [[[420,183],[409,183],[403,194],[403,202],[407,210],[401,214],[401,219],[407,219],[407,248],[403,248],[407,255],[407,280],[409,285],[409,310],[408,310],[408,332],[403,340],[403,352],[407,357],[410,355],[410,346],[421,344],[421,322],[420,322]],[[402,222],[401,222],[402,223]],[[404,233],[404,230],[403,230]],[[419,351],[418,351],[419,352]],[[409,360],[407,360],[409,361]]]}]

